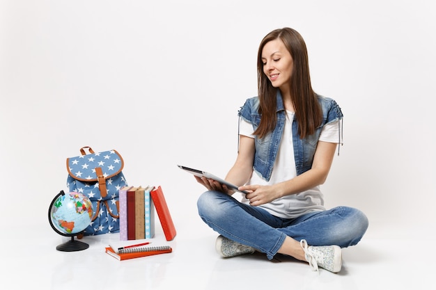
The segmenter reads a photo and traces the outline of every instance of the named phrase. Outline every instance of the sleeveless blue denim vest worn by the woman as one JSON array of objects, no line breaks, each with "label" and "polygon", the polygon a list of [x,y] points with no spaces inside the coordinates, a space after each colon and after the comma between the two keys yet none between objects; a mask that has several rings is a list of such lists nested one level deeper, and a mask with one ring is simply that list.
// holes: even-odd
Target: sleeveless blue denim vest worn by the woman
[{"label": "sleeveless blue denim vest worn by the woman", "polygon": [[[297,169],[297,175],[301,175],[307,170],[311,169],[313,163],[313,156],[315,155],[316,145],[318,138],[320,137],[322,127],[329,122],[341,120],[343,114],[341,108],[336,104],[334,99],[322,97],[317,95],[318,102],[322,108],[322,123],[320,127],[316,128],[315,133],[306,136],[304,139],[299,138],[298,134],[298,122],[293,120],[293,147],[295,166]],[[258,113],[259,99],[258,97],[251,97],[247,99],[244,106],[240,108],[238,115],[247,122],[253,124],[253,130],[255,131],[260,124],[260,114]],[[285,127],[286,111],[281,99],[281,93],[277,91],[277,125],[273,131],[268,133],[263,138],[255,136],[255,148],[253,169],[260,174],[266,181],[269,181],[272,174],[272,168],[274,161],[276,160],[277,152],[279,151],[279,145],[281,136],[283,135],[283,129]],[[341,122],[339,122],[341,124]],[[341,143],[341,128],[339,128],[338,143]]]}]

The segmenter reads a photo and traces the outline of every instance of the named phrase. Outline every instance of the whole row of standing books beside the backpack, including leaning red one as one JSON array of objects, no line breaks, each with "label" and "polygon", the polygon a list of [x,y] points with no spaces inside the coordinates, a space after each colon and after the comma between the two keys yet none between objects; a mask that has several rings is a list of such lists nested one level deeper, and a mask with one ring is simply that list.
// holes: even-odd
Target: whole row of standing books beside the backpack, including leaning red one
[{"label": "whole row of standing books beside the backpack, including leaning red one", "polygon": [[161,186],[124,186],[120,195],[120,241],[152,239],[155,236],[155,211],[166,241],[176,236],[176,227]]}]

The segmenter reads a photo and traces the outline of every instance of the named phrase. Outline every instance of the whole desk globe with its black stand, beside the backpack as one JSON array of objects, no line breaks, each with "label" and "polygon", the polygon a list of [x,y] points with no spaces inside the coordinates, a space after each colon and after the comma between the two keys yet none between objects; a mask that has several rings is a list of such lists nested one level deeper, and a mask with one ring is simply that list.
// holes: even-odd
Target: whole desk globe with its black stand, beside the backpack
[{"label": "whole desk globe with its black stand, beside the backpack", "polygon": [[56,250],[84,250],[88,244],[76,241],[77,236],[88,227],[93,216],[93,204],[86,195],[76,192],[61,191],[49,206],[49,223],[55,232],[62,236],[70,236],[71,241],[56,247]]}]

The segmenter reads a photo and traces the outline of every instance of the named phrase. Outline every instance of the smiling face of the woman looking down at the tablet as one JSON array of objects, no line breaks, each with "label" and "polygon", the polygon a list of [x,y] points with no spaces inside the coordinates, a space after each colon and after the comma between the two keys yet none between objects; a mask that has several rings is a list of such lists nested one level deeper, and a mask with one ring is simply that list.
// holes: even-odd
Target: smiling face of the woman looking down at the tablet
[{"label": "smiling face of the woman looking down at the tablet", "polygon": [[293,74],[293,58],[280,38],[267,42],[262,49],[263,73],[274,88],[289,92]]}]

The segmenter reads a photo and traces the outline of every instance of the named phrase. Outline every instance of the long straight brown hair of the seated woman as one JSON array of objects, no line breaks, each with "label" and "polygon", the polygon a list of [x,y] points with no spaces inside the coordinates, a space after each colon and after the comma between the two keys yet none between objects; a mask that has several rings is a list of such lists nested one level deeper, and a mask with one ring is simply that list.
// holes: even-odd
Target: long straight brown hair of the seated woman
[{"label": "long straight brown hair of the seated woman", "polygon": [[262,114],[260,124],[254,134],[260,138],[274,130],[277,123],[277,90],[263,72],[262,51],[267,42],[279,38],[293,58],[293,74],[290,78],[290,97],[295,108],[295,118],[298,122],[300,138],[305,138],[315,132],[322,122],[322,110],[312,89],[309,74],[309,58],[306,43],[302,36],[285,27],[268,33],[258,50],[258,96],[260,100],[259,113]]}]

